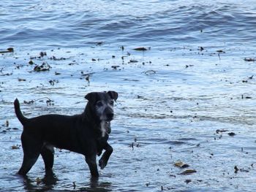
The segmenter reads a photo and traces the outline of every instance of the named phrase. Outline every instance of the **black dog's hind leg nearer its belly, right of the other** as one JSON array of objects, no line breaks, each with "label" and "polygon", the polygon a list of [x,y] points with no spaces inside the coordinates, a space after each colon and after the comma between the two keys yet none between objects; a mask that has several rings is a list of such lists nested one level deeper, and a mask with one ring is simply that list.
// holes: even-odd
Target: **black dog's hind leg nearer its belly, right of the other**
[{"label": "black dog's hind leg nearer its belly, right of the other", "polygon": [[51,145],[44,145],[40,152],[42,159],[45,162],[45,172],[51,171],[53,169],[54,160],[54,149]]}]

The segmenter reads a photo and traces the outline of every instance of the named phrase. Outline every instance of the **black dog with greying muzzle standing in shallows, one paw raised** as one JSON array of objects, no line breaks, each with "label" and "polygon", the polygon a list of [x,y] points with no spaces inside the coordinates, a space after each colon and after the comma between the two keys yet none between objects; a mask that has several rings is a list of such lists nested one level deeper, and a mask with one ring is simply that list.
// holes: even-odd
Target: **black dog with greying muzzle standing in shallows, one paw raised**
[{"label": "black dog with greying muzzle standing in shallows, one paw raised", "polygon": [[99,177],[99,167],[104,169],[113,153],[108,144],[111,131],[110,121],[113,120],[113,104],[118,98],[115,91],[91,92],[84,112],[80,115],[42,115],[26,118],[20,111],[18,99],[15,99],[15,114],[23,125],[21,143],[23,147],[23,163],[18,174],[26,175],[37,161],[39,155],[45,163],[45,172],[53,169],[53,147],[70,150],[85,156],[91,177]]}]

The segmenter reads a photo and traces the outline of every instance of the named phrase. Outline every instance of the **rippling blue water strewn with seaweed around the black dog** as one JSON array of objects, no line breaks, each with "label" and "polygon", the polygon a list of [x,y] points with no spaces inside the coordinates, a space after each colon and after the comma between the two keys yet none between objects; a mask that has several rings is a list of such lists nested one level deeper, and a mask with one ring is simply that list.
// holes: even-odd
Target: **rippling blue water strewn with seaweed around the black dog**
[{"label": "rippling blue water strewn with seaweed around the black dog", "polygon": [[[1,1],[0,18],[0,49],[14,47],[0,56],[0,191],[255,191],[255,1]],[[108,90],[114,152],[98,181],[66,150],[55,175],[41,158],[15,174],[15,98],[28,117],[73,115]]]}]

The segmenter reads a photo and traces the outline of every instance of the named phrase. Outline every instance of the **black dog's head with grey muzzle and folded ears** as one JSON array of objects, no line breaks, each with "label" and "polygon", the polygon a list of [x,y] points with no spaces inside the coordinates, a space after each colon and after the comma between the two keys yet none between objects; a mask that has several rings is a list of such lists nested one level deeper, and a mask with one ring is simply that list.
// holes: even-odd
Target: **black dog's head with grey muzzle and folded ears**
[{"label": "black dog's head with grey muzzle and folded ears", "polygon": [[102,137],[105,133],[110,134],[110,121],[114,117],[113,104],[118,98],[118,93],[116,91],[91,92],[85,98],[89,101],[92,116],[101,125]]}]

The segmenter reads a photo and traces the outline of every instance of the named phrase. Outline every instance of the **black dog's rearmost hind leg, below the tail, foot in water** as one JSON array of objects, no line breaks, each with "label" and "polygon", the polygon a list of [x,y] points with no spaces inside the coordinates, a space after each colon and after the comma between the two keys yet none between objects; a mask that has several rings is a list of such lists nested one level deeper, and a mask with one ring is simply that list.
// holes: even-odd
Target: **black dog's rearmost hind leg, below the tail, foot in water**
[{"label": "black dog's rearmost hind leg, below the tail, foot in water", "polygon": [[23,163],[18,171],[18,174],[26,175],[31,167],[36,163],[39,157],[40,148],[42,145],[38,141],[31,138],[25,138],[26,135],[21,135],[21,142],[23,147]]}]

